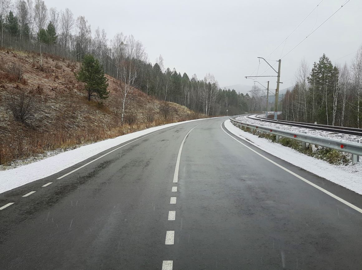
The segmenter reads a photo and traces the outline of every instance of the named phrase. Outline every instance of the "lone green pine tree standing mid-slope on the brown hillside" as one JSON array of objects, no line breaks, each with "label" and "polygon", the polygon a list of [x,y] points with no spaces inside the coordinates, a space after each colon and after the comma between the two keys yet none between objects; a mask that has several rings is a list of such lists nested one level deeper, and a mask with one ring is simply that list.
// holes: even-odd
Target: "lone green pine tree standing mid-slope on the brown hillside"
[{"label": "lone green pine tree standing mid-slope on the brown hillside", "polygon": [[88,101],[92,97],[96,99],[106,99],[109,96],[108,79],[104,76],[102,65],[93,55],[83,57],[82,66],[77,80],[85,83],[85,90],[88,92]]}]

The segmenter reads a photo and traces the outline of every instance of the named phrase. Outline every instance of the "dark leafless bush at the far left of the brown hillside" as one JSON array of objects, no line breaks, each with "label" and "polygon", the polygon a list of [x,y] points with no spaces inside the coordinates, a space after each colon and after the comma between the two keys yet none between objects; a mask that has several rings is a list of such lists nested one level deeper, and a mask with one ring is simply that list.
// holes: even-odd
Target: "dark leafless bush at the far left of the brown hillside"
[{"label": "dark leafless bush at the far left of the brown hillside", "polygon": [[10,94],[7,99],[7,106],[12,111],[15,121],[26,123],[34,116],[34,99],[31,95],[26,95],[24,91],[17,96]]}]

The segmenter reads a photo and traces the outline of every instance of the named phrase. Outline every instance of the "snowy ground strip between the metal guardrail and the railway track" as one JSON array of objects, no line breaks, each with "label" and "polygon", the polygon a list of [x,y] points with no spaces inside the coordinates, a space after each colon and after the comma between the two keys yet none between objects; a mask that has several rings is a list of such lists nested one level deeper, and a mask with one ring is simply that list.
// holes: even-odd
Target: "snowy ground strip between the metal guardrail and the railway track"
[{"label": "snowy ground strip between the metal guardrail and the railway track", "polygon": [[[249,115],[250,117],[253,117],[253,115]],[[262,116],[262,115],[258,115]],[[265,117],[265,115],[264,115]],[[340,141],[347,141],[347,142],[355,142],[356,140],[360,140],[362,142],[362,137],[360,136],[353,136],[348,134],[341,134],[341,133],[335,133],[335,132],[328,132],[323,130],[315,130],[315,129],[308,129],[308,128],[300,128],[300,127],[293,127],[290,125],[282,125],[282,124],[274,124],[270,122],[265,122],[257,119],[250,119],[247,115],[236,117],[235,120],[248,122],[255,125],[263,125],[270,128],[279,128],[284,130],[290,130],[295,132],[306,132],[307,134],[319,136],[319,137],[328,137]]]}]

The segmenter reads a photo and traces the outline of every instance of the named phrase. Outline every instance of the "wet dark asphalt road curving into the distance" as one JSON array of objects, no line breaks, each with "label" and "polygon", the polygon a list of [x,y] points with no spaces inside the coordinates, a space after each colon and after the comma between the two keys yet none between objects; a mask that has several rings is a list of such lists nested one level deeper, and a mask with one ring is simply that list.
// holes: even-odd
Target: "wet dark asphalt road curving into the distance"
[{"label": "wet dark asphalt road curving into the distance", "polygon": [[233,140],[224,120],[166,128],[0,194],[0,206],[15,202],[0,210],[0,269],[362,269],[362,214]]}]

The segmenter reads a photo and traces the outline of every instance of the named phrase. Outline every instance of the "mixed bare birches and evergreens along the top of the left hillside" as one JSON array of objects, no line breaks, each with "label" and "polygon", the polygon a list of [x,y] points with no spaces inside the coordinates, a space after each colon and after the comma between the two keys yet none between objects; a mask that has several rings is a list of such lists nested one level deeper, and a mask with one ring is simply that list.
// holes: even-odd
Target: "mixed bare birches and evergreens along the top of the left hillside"
[{"label": "mixed bare birches and evergreens along the top of the left hillside", "polygon": [[[196,74],[181,75],[174,68],[165,68],[161,55],[152,64],[143,44],[132,35],[119,32],[109,39],[99,27],[92,35],[84,16],[74,18],[68,8],[48,9],[43,0],[0,0],[0,27],[1,47],[46,52],[79,62],[93,55],[104,73],[119,80],[122,120],[125,107],[135,98],[134,88],[205,115],[224,115],[226,110],[240,114],[253,103],[248,94],[220,89],[210,73],[201,79]],[[88,98],[99,97],[89,94]]]}]

